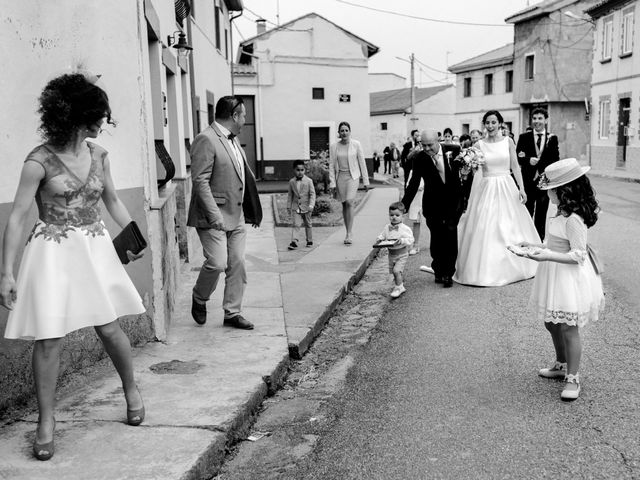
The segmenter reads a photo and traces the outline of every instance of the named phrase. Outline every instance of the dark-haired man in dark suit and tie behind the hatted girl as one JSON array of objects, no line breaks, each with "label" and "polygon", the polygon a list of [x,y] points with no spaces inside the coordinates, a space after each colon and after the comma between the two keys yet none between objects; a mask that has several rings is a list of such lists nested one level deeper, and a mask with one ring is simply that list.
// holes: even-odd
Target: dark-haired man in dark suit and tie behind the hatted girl
[{"label": "dark-haired man in dark suit and tie behind the hatted girl", "polygon": [[531,112],[533,130],[520,135],[516,146],[527,194],[527,210],[533,217],[533,223],[541,239],[544,239],[545,234],[549,197],[546,191],[538,189],[538,177],[545,168],[560,159],[558,137],[547,130],[548,119],[549,114],[544,108],[535,108]]}]

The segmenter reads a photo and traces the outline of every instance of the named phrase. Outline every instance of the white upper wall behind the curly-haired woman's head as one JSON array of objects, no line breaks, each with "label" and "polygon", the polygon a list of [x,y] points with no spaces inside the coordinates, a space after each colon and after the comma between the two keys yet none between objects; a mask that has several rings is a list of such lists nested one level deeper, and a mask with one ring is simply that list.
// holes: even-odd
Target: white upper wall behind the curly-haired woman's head
[{"label": "white upper wall behind the curly-haired woman's head", "polygon": [[118,122],[97,140],[110,153],[116,187],[143,185],[139,159],[148,149],[139,93],[144,84],[138,40],[142,1],[88,0],[81,8],[75,0],[2,3],[0,58],[9,63],[0,69],[0,203],[13,201],[24,158],[41,142],[38,96],[49,80],[78,64],[102,75],[99,85]]}]

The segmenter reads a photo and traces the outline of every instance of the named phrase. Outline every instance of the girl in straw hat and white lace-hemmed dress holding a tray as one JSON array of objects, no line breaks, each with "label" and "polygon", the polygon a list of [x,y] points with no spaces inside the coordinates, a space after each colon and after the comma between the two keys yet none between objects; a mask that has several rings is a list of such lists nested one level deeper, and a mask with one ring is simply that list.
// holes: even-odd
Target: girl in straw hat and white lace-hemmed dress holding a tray
[{"label": "girl in straw hat and white lace-hemmed dress holding a tray", "polygon": [[[538,373],[545,378],[564,378],[560,398],[571,401],[580,395],[579,328],[597,320],[604,309],[604,294],[595,253],[587,246],[587,228],[598,219],[598,202],[585,173],[575,158],[549,165],[539,181],[558,214],[549,219],[545,245],[522,242],[522,256],[540,262],[530,304],[545,326],[556,352],[551,368]],[[546,248],[545,248],[546,247]]]}]

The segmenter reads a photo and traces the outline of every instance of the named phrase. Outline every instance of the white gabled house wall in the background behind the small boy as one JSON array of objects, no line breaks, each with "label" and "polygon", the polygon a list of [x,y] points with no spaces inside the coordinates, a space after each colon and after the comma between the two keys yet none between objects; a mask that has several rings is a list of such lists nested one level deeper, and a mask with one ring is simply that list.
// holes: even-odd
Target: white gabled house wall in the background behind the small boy
[{"label": "white gabled house wall in the background behind the small boy", "polygon": [[[360,42],[318,17],[307,17],[264,35],[254,43],[255,77],[235,77],[237,94],[256,95],[257,137],[262,136],[264,160],[308,158],[310,126],[351,124],[353,138],[371,155],[369,140],[368,59]],[[324,88],[324,100],[312,98],[312,88]],[[339,102],[340,94],[351,95]],[[260,148],[258,146],[258,152]]]}]

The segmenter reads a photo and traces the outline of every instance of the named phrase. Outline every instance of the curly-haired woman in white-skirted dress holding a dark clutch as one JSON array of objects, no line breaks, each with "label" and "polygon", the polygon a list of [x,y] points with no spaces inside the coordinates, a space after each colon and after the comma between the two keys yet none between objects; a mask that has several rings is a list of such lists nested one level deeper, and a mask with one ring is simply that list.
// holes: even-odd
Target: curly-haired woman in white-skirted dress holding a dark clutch
[{"label": "curly-haired woman in white-skirted dress holding a dark clutch", "polygon": [[[4,233],[0,303],[10,311],[6,338],[35,340],[33,377],[38,399],[38,426],[33,454],[54,454],[54,404],[60,352],[67,333],[94,327],[122,380],[127,421],[144,419],[135,383],[129,339],[118,317],[146,311],[122,267],[100,214],[102,200],[124,228],[131,216],[118,198],[106,150],[96,138],[105,119],[111,121],[107,94],[97,77],[62,75],[40,96],[45,143],[27,156]],[[36,200],[38,221],[27,239],[17,280],[13,267],[23,226]],[[130,260],[142,256],[127,252]]]}]

